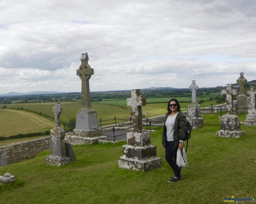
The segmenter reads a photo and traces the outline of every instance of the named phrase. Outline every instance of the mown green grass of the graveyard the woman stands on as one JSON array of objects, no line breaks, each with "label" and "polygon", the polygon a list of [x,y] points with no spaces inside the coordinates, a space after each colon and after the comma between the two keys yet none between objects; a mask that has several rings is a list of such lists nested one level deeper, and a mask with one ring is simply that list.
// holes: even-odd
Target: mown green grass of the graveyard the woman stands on
[{"label": "mown green grass of the graveyard the woman stands on", "polygon": [[[204,115],[207,122],[211,115]],[[215,119],[214,119],[215,120]],[[255,197],[255,127],[241,126],[242,138],[218,138],[217,125],[193,130],[187,152],[188,167],[183,179],[173,176],[161,147],[161,130],[151,134],[162,167],[136,172],[118,167],[122,145],[74,146],[77,162],[45,165],[44,151],[36,158],[0,168],[15,175],[14,185],[0,185],[0,203],[223,203],[224,198]]]}]

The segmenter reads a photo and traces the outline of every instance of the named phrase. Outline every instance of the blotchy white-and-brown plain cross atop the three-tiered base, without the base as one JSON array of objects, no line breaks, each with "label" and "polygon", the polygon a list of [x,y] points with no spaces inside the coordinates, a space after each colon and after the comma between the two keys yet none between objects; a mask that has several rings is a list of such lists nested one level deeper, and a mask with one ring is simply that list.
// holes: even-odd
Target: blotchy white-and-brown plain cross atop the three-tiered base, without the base
[{"label": "blotchy white-and-brown plain cross atop the three-tiered base, without the base", "polygon": [[132,106],[133,131],[142,132],[141,106],[146,105],[146,98],[141,98],[140,89],[132,89],[132,97],[127,98],[127,106]]}]

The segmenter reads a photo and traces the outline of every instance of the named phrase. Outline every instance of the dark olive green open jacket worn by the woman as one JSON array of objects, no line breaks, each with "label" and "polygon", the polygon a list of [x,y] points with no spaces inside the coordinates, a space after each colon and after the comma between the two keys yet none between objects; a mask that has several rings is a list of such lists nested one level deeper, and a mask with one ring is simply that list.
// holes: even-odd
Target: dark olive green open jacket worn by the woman
[{"label": "dark olive green open jacket worn by the woman", "polygon": [[[167,114],[164,118],[164,129],[162,132],[162,144],[166,145],[166,132],[167,129],[165,127],[165,121],[167,120],[169,114]],[[185,141],[186,137],[186,130],[187,130],[187,118],[184,116],[183,113],[179,112],[175,119],[174,129],[173,129],[173,141],[174,145],[173,148],[179,147],[180,140]]]}]

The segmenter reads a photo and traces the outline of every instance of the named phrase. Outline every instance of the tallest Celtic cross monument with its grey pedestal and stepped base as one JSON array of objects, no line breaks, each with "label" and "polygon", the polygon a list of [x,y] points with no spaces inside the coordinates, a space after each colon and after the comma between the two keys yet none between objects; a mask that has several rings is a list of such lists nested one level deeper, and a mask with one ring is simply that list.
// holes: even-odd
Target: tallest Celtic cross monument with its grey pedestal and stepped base
[{"label": "tallest Celtic cross monument with its grey pedestal and stepped base", "polygon": [[93,144],[101,138],[97,113],[91,108],[89,79],[94,74],[94,69],[88,64],[88,54],[82,53],[81,65],[76,70],[76,75],[82,80],[82,108],[76,114],[76,128],[74,135],[67,136],[66,140],[71,144]]}]

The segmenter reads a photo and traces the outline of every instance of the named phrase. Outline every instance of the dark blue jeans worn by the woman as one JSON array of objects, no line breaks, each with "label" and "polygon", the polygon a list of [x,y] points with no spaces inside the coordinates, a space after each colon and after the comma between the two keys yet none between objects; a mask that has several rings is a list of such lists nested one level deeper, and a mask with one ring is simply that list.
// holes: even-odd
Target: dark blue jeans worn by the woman
[{"label": "dark blue jeans worn by the woman", "polygon": [[177,158],[177,149],[173,149],[173,141],[166,141],[165,145],[165,159],[169,163],[169,165],[172,167],[172,170],[174,172],[174,176],[180,177],[180,170],[181,167],[179,167],[176,163]]}]

